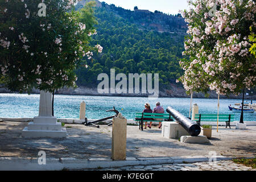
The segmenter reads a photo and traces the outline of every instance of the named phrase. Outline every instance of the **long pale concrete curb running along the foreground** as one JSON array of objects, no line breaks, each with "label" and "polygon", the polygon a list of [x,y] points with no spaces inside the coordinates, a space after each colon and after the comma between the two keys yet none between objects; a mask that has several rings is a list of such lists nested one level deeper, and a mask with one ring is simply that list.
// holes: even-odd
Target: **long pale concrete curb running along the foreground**
[{"label": "long pale concrete curb running along the foreground", "polygon": [[[216,156],[216,160],[232,160],[236,157]],[[126,158],[126,160],[114,161],[110,158],[47,158],[46,164],[38,164],[37,158],[0,158],[1,171],[54,171],[62,169],[96,169],[113,168],[124,166],[146,166],[174,163],[196,163],[208,162],[208,156],[177,156],[177,157],[156,157],[156,158]]]}]

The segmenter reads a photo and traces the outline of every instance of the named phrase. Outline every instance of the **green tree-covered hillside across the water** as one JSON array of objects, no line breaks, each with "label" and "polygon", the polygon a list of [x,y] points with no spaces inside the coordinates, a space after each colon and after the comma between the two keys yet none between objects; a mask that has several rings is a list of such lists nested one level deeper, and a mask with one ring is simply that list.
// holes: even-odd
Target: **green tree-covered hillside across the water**
[{"label": "green tree-covered hillside across the water", "polygon": [[[93,10],[98,22],[95,25],[98,33],[92,36],[91,44],[100,44],[104,49],[102,53],[94,55],[92,60],[87,60],[88,68],[77,69],[77,85],[97,86],[98,74],[109,74],[110,68],[115,68],[116,74],[159,73],[162,88],[168,88],[170,83],[180,77],[182,70],[179,60],[185,35],[184,28],[178,28],[181,25],[176,24],[173,28],[177,32],[159,32],[134,23],[137,15],[128,16],[134,11],[114,5],[97,5]],[[170,16],[172,18],[174,16]]]}]

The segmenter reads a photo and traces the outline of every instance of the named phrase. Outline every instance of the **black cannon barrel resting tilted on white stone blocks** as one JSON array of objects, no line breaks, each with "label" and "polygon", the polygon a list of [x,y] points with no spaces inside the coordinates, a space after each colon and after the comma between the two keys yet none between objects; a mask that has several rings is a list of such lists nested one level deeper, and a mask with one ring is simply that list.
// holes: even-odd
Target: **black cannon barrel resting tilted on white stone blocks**
[{"label": "black cannon barrel resting tilted on white stone blocks", "polygon": [[188,119],[171,106],[167,107],[166,111],[167,113],[170,113],[172,117],[174,117],[176,121],[180,123],[180,125],[184,127],[184,129],[187,130],[191,136],[197,137],[200,134],[201,127],[197,125],[196,122],[191,121],[191,119]]}]

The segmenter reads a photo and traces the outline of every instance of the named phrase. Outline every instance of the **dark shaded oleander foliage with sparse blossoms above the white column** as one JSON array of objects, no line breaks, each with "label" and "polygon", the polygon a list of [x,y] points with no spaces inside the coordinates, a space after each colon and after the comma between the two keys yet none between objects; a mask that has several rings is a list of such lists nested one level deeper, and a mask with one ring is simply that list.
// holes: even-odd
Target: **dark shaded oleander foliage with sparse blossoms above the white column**
[{"label": "dark shaded oleander foliage with sparse blossoms above the white column", "polygon": [[92,30],[72,10],[75,2],[0,0],[0,78],[6,88],[30,93],[76,86],[74,71],[82,57],[91,59],[102,47],[88,46]]}]

